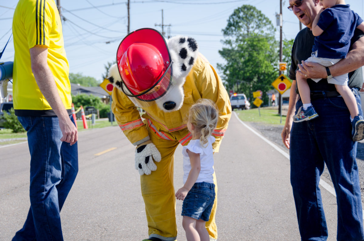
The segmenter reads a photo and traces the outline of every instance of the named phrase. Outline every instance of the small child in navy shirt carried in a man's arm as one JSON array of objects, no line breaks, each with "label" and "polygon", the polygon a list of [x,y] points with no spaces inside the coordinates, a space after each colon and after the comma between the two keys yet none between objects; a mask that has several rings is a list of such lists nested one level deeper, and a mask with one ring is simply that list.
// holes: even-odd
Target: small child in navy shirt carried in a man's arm
[{"label": "small child in navy shirt carried in a man's arm", "polygon": [[[312,33],[316,36],[315,42],[312,47],[311,57],[306,62],[319,63],[325,66],[329,73],[329,66],[346,57],[354,30],[358,28],[364,31],[364,23],[359,15],[350,10],[349,5],[345,5],[345,0],[321,0],[320,5],[323,8],[318,12],[312,23]],[[307,84],[307,79],[296,74],[296,80],[303,105],[297,114],[293,116],[293,121],[301,122],[318,117],[311,104],[310,87]],[[318,82],[321,78],[312,80]],[[350,111],[353,141],[364,139],[364,120],[359,115],[355,96],[348,86],[348,74],[345,73],[339,76],[328,74],[327,82],[335,84],[337,92],[343,96]]]}]

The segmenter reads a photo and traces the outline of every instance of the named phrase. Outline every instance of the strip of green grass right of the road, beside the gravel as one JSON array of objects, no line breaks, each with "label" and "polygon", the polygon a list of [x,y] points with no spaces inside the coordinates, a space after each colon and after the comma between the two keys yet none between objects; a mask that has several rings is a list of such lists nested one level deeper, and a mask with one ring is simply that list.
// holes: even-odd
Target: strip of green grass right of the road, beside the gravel
[{"label": "strip of green grass right of the road, beside the gravel", "polygon": [[280,123],[281,116],[278,114],[277,108],[272,107],[260,108],[260,116],[258,108],[250,110],[236,110],[236,113],[242,121],[247,122],[261,122],[269,125],[284,125],[286,121],[286,116],[282,115],[282,123]]}]

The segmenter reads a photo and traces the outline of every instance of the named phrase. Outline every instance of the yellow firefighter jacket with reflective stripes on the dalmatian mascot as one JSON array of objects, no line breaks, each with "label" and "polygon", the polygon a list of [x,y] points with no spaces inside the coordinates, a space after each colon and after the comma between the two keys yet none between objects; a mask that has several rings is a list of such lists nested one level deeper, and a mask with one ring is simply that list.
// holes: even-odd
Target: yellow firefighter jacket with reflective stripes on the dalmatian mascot
[{"label": "yellow firefighter jacket with reflective stripes on the dalmatian mascot", "polygon": [[[218,152],[231,117],[231,105],[221,78],[203,55],[199,54],[196,59],[192,70],[186,77],[183,89],[185,96],[181,109],[164,112],[154,104],[143,108],[146,113],[141,117],[134,103],[121,90],[114,88],[112,112],[123,133],[133,145],[139,145],[149,139],[145,123],[153,125],[157,135],[160,135],[161,138],[166,137],[165,139],[170,138],[169,133],[187,130],[189,108],[198,99],[205,98],[213,100],[219,110],[217,127],[213,132],[216,139],[213,149]],[[142,118],[145,119],[144,122]],[[188,141],[179,140],[179,142],[186,145]]]}]

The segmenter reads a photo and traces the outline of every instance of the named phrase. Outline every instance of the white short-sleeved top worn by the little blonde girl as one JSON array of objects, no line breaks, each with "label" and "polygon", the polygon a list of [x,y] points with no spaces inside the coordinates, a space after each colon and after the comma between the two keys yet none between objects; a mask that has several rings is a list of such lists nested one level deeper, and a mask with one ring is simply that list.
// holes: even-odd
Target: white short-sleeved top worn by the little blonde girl
[{"label": "white short-sleeved top worn by the little blonde girl", "polygon": [[213,158],[213,150],[212,143],[215,142],[215,138],[210,136],[208,138],[209,143],[206,147],[201,146],[200,140],[191,140],[187,146],[183,146],[182,154],[183,154],[183,184],[186,183],[188,174],[191,170],[190,157],[187,153],[187,149],[193,153],[200,154],[200,163],[201,170],[198,174],[198,178],[196,182],[208,182],[214,183],[213,176],[214,174],[214,158]]}]

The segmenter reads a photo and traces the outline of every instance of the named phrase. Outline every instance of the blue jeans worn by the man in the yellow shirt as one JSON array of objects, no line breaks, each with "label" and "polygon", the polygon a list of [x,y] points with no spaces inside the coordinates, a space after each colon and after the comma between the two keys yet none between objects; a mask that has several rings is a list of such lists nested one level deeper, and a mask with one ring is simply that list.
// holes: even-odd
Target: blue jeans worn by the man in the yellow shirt
[{"label": "blue jeans worn by the man in the yellow shirt", "polygon": [[[70,116],[72,122],[74,119]],[[60,210],[78,172],[77,142],[61,142],[58,117],[18,116],[27,131],[30,209],[17,240],[63,240]]]}]

